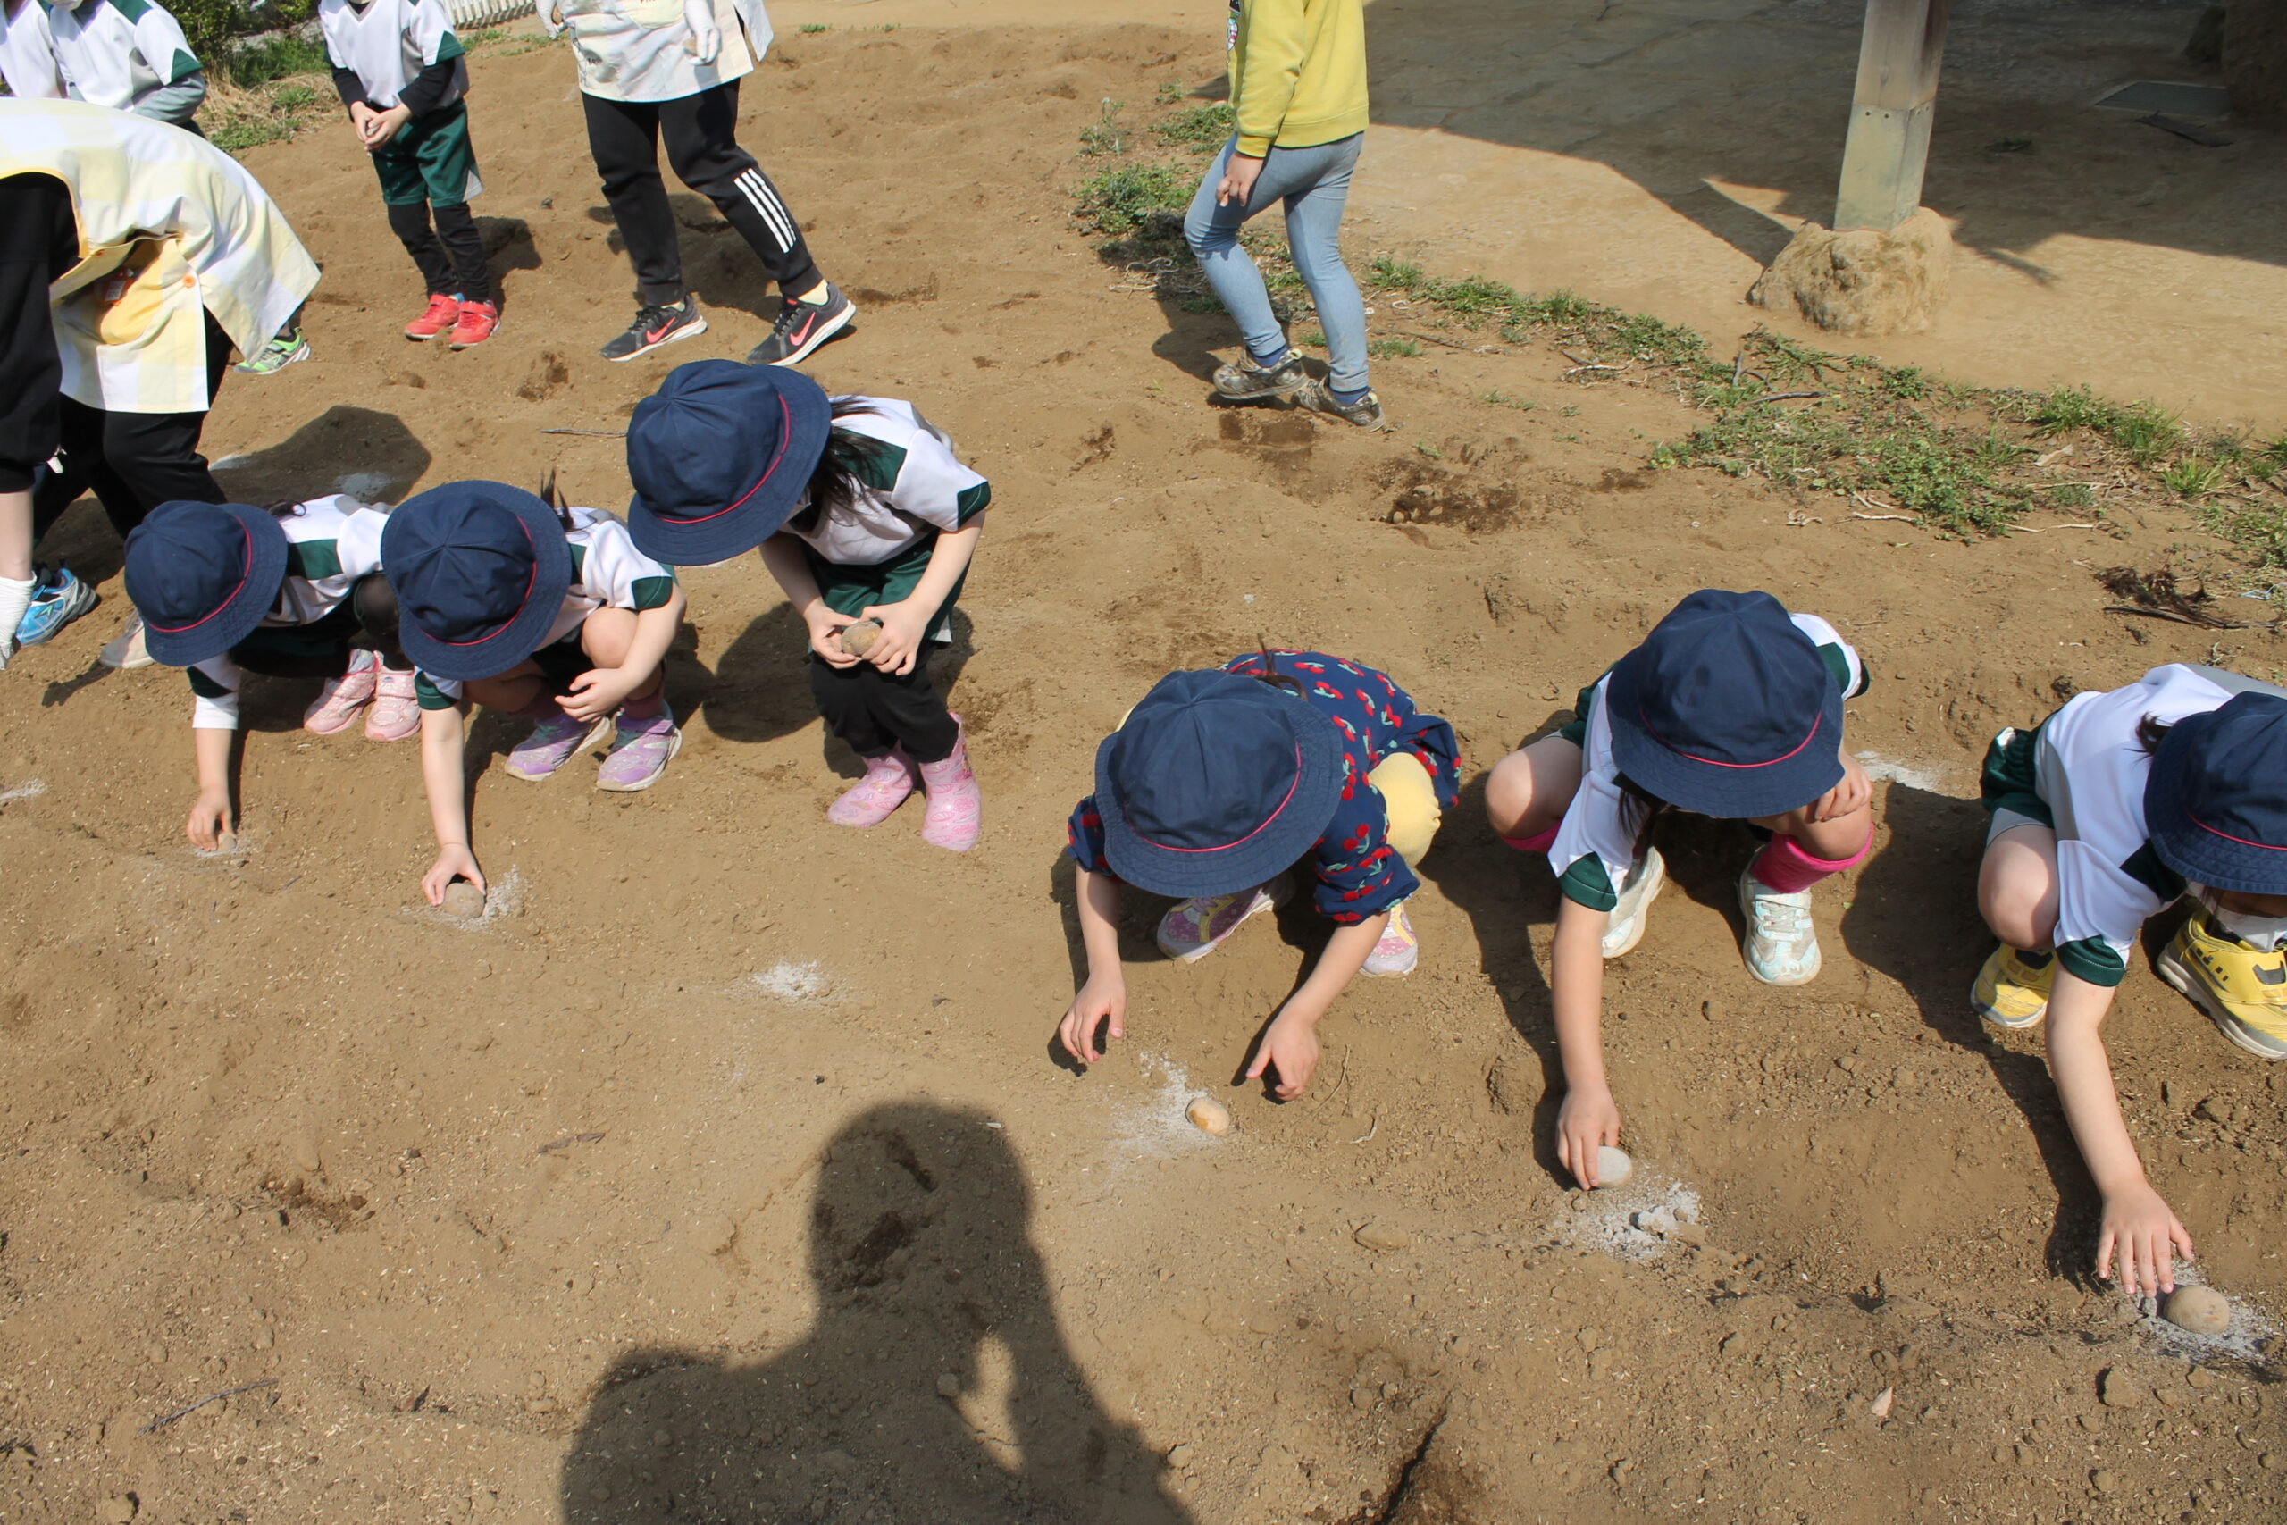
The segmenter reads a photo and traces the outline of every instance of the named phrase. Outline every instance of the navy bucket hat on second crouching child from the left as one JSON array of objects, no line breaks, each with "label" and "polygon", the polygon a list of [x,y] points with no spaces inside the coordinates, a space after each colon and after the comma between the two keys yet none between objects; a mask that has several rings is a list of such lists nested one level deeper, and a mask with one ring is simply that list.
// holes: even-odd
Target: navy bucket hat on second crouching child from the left
[{"label": "navy bucket hat on second crouching child from the left", "polygon": [[499,677],[540,649],[572,588],[556,510],[505,482],[446,482],[382,526],[405,656],[432,677]]}]

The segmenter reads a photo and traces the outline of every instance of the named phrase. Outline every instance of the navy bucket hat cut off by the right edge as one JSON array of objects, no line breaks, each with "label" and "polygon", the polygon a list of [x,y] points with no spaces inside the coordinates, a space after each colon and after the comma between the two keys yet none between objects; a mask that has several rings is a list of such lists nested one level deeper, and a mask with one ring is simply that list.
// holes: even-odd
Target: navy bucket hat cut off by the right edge
[{"label": "navy bucket hat cut off by the right edge", "polygon": [[2198,885],[2287,894],[2287,700],[2239,693],[2168,727],[2145,775],[2145,832]]}]

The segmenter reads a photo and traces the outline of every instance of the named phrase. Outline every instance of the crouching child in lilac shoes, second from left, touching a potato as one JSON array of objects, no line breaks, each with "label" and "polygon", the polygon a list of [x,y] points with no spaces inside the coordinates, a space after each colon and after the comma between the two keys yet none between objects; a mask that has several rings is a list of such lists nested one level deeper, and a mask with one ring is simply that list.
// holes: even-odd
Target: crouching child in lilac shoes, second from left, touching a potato
[{"label": "crouching child in lilac shoes, second from left, touching a potato", "polygon": [[565,508],[553,473],[535,496],[503,482],[446,482],[389,514],[382,560],[398,636],[419,668],[421,780],[437,862],[430,905],[485,876],[469,846],[462,748],[469,704],[526,716],[508,775],[540,782],[613,732],[595,787],[650,789],[682,748],[666,656],[684,620],[675,572],[595,508]]}]

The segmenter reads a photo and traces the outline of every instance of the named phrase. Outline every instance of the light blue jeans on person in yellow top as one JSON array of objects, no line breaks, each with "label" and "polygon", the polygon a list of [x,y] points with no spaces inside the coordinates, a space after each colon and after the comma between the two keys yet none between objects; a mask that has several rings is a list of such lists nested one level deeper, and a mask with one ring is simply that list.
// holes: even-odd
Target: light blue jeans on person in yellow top
[{"label": "light blue jeans on person in yellow top", "polygon": [[1329,382],[1338,391],[1365,389],[1365,302],[1358,300],[1358,284],[1342,265],[1338,233],[1342,229],[1342,203],[1349,199],[1349,171],[1358,165],[1358,149],[1365,133],[1338,137],[1331,144],[1310,149],[1272,149],[1256,176],[1256,190],[1246,206],[1217,206],[1214,187],[1230,165],[1230,151],[1240,146],[1233,137],[1208,167],[1208,178],[1192,197],[1192,210],[1182,217],[1182,235],[1192,240],[1198,268],[1208,272],[1208,286],[1221,297],[1230,316],[1240,320],[1246,350],[1258,361],[1265,354],[1285,354],[1285,334],[1272,311],[1272,295],[1262,288],[1262,272],[1240,245],[1240,229],[1272,201],[1288,208],[1288,249],[1301,284],[1310,288],[1317,304],[1317,322],[1326,332]]}]

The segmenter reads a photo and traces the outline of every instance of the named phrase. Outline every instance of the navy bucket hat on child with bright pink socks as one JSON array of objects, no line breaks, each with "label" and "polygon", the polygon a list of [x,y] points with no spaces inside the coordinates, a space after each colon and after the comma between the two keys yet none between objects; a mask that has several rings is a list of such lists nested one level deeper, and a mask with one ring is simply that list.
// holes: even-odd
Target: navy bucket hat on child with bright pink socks
[{"label": "navy bucket hat on child with bright pink socks", "polygon": [[1768,592],[1702,588],[1612,665],[1612,761],[1654,798],[1729,821],[1841,782],[1843,695]]}]

